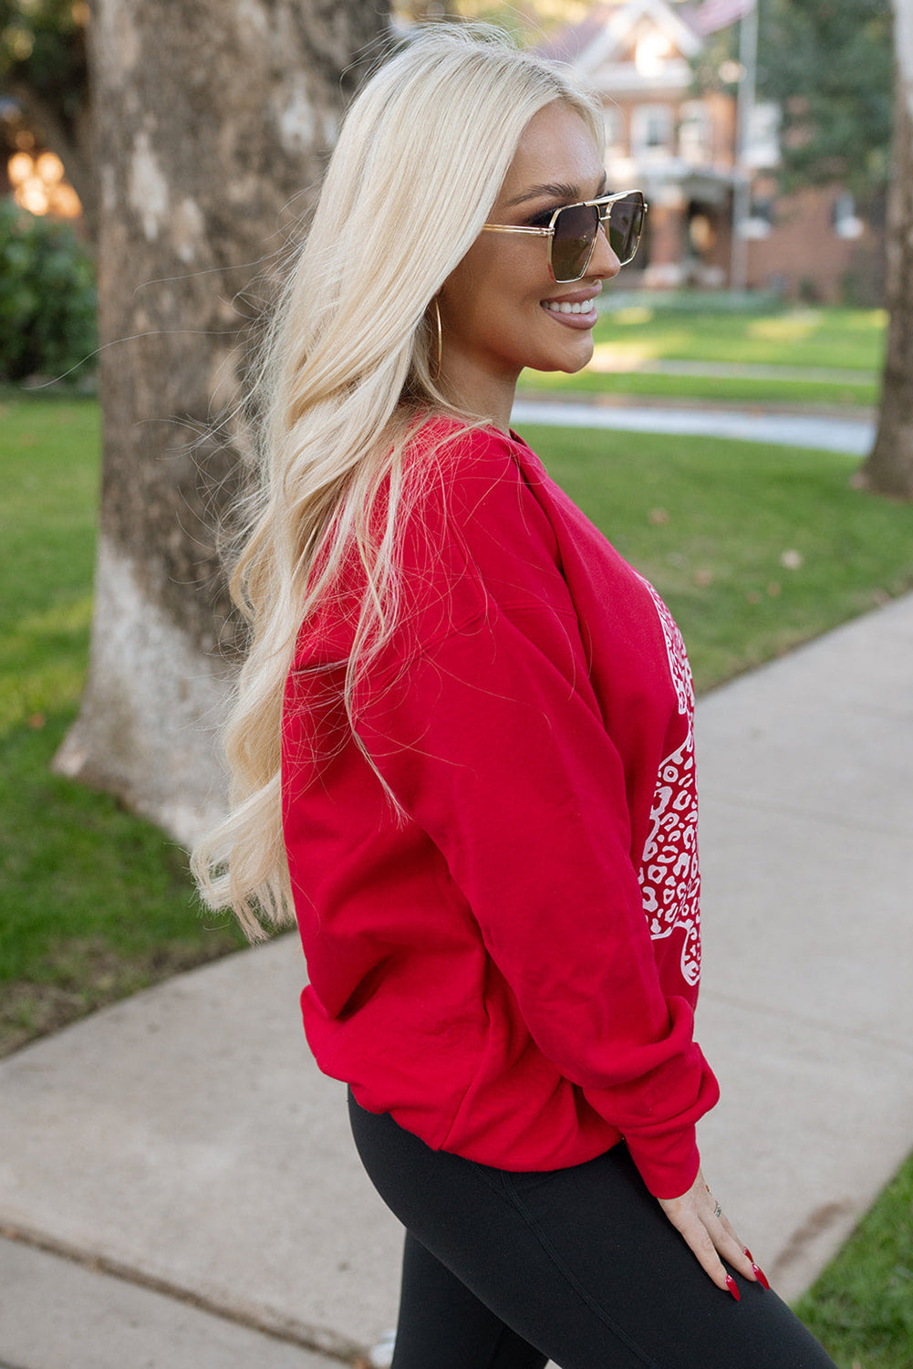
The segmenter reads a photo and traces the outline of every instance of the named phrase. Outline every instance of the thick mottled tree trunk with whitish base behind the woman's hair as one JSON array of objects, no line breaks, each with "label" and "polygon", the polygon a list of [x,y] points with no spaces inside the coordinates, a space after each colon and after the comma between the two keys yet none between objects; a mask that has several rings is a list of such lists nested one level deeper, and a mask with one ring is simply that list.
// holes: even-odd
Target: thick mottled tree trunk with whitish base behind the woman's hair
[{"label": "thick mottled tree trunk with whitish base behind the woman's hair", "polygon": [[[216,550],[252,319],[331,148],[376,0],[96,0],[104,464],[89,678],[56,757],[181,842],[224,804],[237,658]],[[293,201],[293,203],[292,203]]]}]

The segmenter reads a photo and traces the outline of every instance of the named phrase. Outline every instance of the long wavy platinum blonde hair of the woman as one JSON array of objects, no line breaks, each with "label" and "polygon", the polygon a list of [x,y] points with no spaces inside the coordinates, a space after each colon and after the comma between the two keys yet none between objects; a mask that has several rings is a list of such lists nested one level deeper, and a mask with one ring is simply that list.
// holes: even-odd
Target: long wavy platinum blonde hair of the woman
[{"label": "long wavy platinum blonde hair of the woman", "polygon": [[231,906],[252,941],[293,920],[279,765],[300,627],[355,552],[365,590],[342,664],[361,745],[352,695],[394,627],[397,531],[431,464],[404,460],[409,428],[433,412],[472,426],[435,385],[426,311],[480,233],[526,125],[554,100],[601,148],[601,107],[571,73],[500,30],[437,23],[413,30],[344,120],[261,371],[249,535],[231,576],[250,645],[224,730],[230,812],[192,857],[203,899]]}]

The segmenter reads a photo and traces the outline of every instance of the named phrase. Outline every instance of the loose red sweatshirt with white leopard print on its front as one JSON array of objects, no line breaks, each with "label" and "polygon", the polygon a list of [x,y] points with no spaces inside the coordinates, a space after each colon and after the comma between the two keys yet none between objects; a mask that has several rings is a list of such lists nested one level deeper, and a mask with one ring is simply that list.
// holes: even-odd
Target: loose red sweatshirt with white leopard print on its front
[{"label": "loose red sweatshirt with white leopard print on its front", "polygon": [[341,669],[312,669],[352,642],[345,587],[287,680],[308,1042],[434,1149],[557,1169],[624,1138],[650,1191],[678,1197],[719,1097],[693,1040],[682,638],[520,438],[463,434],[439,461],[405,526],[398,627],[356,694],[405,821],[346,730]]}]

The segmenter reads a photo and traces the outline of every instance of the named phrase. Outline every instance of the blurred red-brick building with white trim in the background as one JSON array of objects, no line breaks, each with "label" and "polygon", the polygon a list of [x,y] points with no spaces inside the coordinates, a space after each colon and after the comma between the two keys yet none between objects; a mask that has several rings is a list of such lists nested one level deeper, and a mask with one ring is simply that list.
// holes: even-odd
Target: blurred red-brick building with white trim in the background
[{"label": "blurred red-brick building with white trim in the background", "polygon": [[[691,62],[705,41],[697,10],[682,0],[602,0],[546,49],[602,96],[609,185],[646,193],[647,233],[631,267],[645,286],[713,289],[731,279],[736,100],[694,89]],[[749,287],[876,300],[883,231],[857,218],[839,185],[780,196],[777,129],[777,107],[756,104],[743,159]]]}]

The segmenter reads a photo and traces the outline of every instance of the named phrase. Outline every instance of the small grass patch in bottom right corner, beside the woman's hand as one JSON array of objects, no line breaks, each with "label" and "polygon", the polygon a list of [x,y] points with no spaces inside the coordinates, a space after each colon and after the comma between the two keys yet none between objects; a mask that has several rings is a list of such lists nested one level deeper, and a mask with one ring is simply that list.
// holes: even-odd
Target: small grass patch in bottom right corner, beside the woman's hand
[{"label": "small grass patch in bottom right corner, beside the woman's hand", "polygon": [[913,1155],[795,1312],[839,1369],[910,1369]]}]

